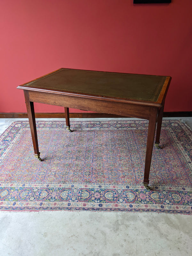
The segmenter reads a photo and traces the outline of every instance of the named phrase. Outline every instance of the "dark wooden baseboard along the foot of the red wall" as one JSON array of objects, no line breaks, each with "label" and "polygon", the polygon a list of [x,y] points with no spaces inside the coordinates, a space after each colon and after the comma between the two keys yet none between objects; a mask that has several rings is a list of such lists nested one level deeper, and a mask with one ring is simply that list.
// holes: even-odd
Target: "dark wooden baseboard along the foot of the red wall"
[{"label": "dark wooden baseboard along the foot of the red wall", "polygon": [[[71,118],[110,118],[125,117],[104,113],[70,113]],[[65,113],[36,113],[36,118],[65,118]],[[185,112],[164,112],[164,117],[188,117],[192,111]],[[28,118],[27,113],[0,113],[0,118]]]}]

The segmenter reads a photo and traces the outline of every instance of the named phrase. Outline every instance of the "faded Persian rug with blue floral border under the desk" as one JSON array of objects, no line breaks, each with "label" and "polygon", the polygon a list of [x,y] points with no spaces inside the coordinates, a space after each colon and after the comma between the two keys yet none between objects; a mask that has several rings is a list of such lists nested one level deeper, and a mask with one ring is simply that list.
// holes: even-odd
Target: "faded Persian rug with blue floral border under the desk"
[{"label": "faded Persian rug with blue floral border under the desk", "polygon": [[42,162],[28,121],[0,136],[0,209],[192,214],[192,131],[163,120],[148,191],[143,186],[148,121],[37,121]]}]

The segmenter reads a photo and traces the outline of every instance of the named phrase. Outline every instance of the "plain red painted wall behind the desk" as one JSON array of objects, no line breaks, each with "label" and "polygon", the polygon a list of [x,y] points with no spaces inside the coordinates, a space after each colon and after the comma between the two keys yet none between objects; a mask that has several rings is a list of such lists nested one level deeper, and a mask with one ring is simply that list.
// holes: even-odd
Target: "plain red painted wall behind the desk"
[{"label": "plain red painted wall behind the desk", "polygon": [[26,112],[17,85],[61,67],[170,75],[164,110],[192,111],[191,9],[191,0],[1,0],[0,112]]}]

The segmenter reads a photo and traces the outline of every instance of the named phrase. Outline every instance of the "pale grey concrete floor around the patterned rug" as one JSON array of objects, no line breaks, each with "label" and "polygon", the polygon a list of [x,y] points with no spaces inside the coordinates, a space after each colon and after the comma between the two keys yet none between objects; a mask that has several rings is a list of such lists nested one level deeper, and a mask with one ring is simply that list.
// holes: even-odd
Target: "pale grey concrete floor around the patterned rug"
[{"label": "pale grey concrete floor around the patterned rug", "polygon": [[[179,119],[192,128],[192,117]],[[14,120],[20,119],[0,119],[0,133]],[[147,212],[0,212],[0,256],[4,255],[192,255],[192,216]]]}]

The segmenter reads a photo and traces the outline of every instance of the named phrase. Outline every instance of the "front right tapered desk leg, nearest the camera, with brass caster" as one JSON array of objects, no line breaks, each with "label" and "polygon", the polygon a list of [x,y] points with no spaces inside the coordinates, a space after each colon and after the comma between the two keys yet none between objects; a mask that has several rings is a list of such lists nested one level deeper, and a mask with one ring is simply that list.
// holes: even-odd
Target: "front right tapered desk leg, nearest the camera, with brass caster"
[{"label": "front right tapered desk leg, nearest the camera, with brass caster", "polygon": [[151,166],[151,157],[153,152],[153,143],[156,129],[156,118],[157,118],[158,108],[151,108],[149,116],[149,126],[148,126],[148,136],[147,136],[147,149],[146,149],[146,158],[145,158],[145,172],[144,172],[144,186],[150,190],[149,184],[149,172]]}]

